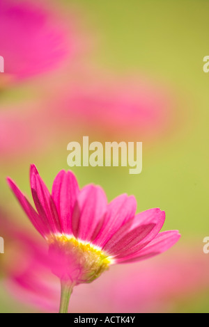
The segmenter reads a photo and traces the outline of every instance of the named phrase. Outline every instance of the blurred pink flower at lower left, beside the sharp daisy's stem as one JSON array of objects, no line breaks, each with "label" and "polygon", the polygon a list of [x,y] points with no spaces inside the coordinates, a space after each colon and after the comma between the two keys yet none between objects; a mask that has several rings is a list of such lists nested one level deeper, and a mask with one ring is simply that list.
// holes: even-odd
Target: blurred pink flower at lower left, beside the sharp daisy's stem
[{"label": "blurred pink flower at lower left, beside the sharp daisy's stem", "polygon": [[[53,283],[50,284],[51,292],[45,283],[45,278],[49,282],[53,280],[54,275],[51,269],[53,264],[57,264],[57,262],[54,259],[53,261],[49,259],[45,241],[42,241],[31,230],[18,225],[14,219],[9,218],[10,216],[1,209],[0,234],[4,239],[6,255],[0,257],[0,277],[13,280],[23,290],[26,289],[28,294],[31,292],[33,300],[38,296],[39,300],[37,303],[35,301],[36,305],[47,308],[47,296],[50,296],[54,303],[56,301],[59,303],[59,295],[58,298],[54,296]],[[40,278],[39,273],[41,273],[42,278]],[[59,280],[56,277],[54,282],[59,289]]]}]

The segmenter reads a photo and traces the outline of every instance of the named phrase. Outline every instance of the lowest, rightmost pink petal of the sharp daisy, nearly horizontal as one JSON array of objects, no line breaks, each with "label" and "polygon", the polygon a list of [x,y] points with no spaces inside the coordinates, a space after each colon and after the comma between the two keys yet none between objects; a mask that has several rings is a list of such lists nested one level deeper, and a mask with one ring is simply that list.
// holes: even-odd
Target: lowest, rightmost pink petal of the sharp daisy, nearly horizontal
[{"label": "lowest, rightmost pink petal of the sharp daisy, nearly horizontal", "polygon": [[117,263],[128,263],[128,262],[137,262],[141,260],[146,260],[149,257],[154,257],[160,253],[169,250],[171,246],[176,244],[176,242],[180,239],[180,234],[178,230],[169,230],[167,232],[162,232],[151,241],[148,246],[140,250],[138,253],[134,253],[134,255],[130,255],[127,257],[121,257],[116,260]]}]

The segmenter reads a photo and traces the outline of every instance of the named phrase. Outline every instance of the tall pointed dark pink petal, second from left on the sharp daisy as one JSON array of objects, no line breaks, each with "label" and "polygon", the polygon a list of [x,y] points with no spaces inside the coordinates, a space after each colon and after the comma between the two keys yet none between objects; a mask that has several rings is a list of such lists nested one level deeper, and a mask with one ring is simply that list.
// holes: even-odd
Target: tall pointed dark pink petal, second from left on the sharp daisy
[{"label": "tall pointed dark pink petal, second from left on the sharp daisy", "polygon": [[49,222],[52,232],[61,232],[59,215],[56,212],[54,201],[34,165],[31,165],[30,180],[31,192],[38,214]]}]

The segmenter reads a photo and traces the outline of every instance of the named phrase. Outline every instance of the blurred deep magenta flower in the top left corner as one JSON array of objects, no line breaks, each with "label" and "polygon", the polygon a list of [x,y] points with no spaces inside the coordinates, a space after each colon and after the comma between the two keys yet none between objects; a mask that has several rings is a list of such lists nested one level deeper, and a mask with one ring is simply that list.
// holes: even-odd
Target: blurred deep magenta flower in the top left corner
[{"label": "blurred deep magenta flower in the top left corner", "polygon": [[[0,79],[17,81],[57,67],[75,51],[73,35],[42,1],[0,1]],[[3,82],[1,81],[1,84]]]}]

